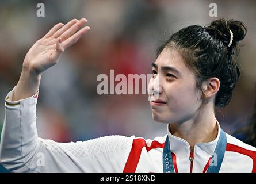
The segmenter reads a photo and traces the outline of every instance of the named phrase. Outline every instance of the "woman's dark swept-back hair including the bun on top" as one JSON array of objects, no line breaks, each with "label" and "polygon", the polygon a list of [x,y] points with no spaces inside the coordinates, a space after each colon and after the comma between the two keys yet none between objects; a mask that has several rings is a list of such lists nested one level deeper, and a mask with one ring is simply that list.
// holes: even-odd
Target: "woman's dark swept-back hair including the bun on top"
[{"label": "woman's dark swept-back hair including the bun on top", "polygon": [[[230,47],[228,44],[233,40]],[[238,42],[246,36],[243,22],[221,18],[208,26],[192,25],[171,35],[161,47],[175,48],[184,57],[185,63],[196,75],[196,85],[201,89],[202,82],[217,77],[220,89],[216,95],[215,106],[224,107],[230,102],[232,91],[239,79],[240,71],[234,60],[234,53],[239,54]]]}]

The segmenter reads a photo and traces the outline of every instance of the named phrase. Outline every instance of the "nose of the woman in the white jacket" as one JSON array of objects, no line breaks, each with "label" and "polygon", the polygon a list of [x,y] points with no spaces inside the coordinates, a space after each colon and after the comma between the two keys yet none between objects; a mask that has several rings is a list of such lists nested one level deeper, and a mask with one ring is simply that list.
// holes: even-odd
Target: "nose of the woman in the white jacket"
[{"label": "nose of the woman in the white jacket", "polygon": [[162,94],[163,87],[159,83],[159,77],[150,79],[148,83],[148,100],[152,101],[154,99],[158,99],[159,94]]}]

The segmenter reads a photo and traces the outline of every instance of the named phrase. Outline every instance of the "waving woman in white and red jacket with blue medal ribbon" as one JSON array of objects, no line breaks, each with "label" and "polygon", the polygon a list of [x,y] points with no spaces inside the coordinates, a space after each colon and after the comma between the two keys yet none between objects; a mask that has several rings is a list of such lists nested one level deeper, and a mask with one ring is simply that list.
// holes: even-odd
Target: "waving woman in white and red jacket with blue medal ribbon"
[{"label": "waving woman in white and red jacket with blue medal ribbon", "polygon": [[41,75],[90,29],[77,32],[85,22],[55,25],[27,53],[20,80],[6,97],[3,166],[22,172],[256,172],[256,148],[224,133],[215,118],[215,108],[228,104],[240,74],[232,55],[246,28],[234,20],[181,29],[159,49],[149,95],[152,117],[167,124],[167,135],[154,140],[106,136],[76,143],[39,138]]}]

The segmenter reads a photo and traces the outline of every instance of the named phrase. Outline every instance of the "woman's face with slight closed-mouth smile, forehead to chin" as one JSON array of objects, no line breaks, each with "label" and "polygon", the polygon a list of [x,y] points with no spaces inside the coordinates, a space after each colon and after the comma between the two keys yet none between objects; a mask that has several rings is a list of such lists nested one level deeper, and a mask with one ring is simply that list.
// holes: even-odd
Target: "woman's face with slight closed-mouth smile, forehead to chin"
[{"label": "woman's face with slight closed-mouth smile, forehead to chin", "polygon": [[[159,85],[155,85],[156,81]],[[175,49],[163,49],[152,63],[149,87],[157,96],[150,101],[155,121],[182,123],[193,118],[201,106],[201,91],[196,87],[195,75]]]}]

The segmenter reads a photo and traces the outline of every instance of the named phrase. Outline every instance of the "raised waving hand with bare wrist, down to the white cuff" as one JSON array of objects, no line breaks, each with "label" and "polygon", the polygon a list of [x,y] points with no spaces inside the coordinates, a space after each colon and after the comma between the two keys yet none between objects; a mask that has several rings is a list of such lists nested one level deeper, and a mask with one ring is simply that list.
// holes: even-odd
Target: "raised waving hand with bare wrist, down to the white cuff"
[{"label": "raised waving hand with bare wrist, down to the white cuff", "polygon": [[10,101],[31,97],[39,90],[42,73],[54,66],[62,52],[88,32],[89,26],[80,29],[85,22],[87,20],[82,18],[79,21],[71,20],[66,25],[56,24],[29,49],[23,62],[20,80]]}]

